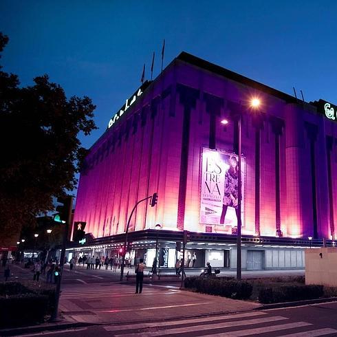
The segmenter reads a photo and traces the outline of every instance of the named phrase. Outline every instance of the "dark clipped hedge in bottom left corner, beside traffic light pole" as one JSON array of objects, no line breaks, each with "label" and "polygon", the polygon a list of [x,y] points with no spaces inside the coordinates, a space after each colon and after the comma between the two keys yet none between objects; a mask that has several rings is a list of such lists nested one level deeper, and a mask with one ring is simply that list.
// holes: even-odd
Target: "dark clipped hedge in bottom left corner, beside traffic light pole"
[{"label": "dark clipped hedge in bottom left corner, beside traffic light pole", "polygon": [[43,322],[47,312],[47,296],[19,294],[0,297],[0,327]]}]

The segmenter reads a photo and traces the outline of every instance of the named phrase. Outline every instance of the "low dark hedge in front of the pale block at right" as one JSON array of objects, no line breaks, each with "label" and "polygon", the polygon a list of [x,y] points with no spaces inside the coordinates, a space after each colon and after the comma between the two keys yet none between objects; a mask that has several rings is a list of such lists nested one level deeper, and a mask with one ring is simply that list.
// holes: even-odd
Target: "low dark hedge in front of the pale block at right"
[{"label": "low dark hedge in front of the pale block at right", "polygon": [[259,292],[260,303],[280,303],[303,301],[323,296],[323,285],[281,285],[279,287],[265,287]]}]

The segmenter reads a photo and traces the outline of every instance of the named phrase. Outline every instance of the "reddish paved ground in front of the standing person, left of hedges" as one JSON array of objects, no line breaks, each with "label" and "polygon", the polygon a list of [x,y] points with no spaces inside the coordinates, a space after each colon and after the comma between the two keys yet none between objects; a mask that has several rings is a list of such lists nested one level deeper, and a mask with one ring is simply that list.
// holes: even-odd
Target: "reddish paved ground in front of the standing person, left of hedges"
[{"label": "reddish paved ground in front of the standing person, left of hedges", "polygon": [[80,292],[66,287],[59,308],[63,317],[74,323],[128,324],[246,312],[261,306],[174,286],[144,285],[142,294],[134,291],[134,286],[120,284],[85,287]]}]

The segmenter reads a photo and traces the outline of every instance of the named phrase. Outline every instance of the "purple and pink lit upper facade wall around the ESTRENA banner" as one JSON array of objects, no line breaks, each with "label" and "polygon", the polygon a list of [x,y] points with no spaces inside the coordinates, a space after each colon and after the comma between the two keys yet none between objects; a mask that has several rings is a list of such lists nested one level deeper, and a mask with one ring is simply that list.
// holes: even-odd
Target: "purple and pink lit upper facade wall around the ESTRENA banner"
[{"label": "purple and pink lit upper facade wall around the ESTRENA banner", "polygon": [[[220,121],[239,109],[247,161],[243,234],[275,236],[281,229],[283,236],[333,238],[336,122],[313,105],[191,59],[168,65],[92,146],[74,221],[87,221],[85,230],[94,237],[124,232],[135,203],[157,192],[157,206],[140,204],[130,230],[162,224],[205,232],[199,217],[202,148],[236,151],[235,123]],[[243,109],[252,97],[260,98],[260,113]],[[211,230],[231,232],[220,224]]]}]

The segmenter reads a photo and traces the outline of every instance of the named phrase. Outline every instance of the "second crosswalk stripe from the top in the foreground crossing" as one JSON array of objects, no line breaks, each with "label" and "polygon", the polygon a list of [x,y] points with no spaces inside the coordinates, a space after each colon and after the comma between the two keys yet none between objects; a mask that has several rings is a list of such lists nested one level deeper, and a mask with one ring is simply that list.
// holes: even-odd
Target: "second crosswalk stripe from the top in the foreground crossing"
[{"label": "second crosswalk stripe from the top in the foreground crossing", "polygon": [[[286,320],[288,318],[283,316],[272,316],[272,317],[263,317],[263,318],[253,318],[250,320],[236,320],[234,322],[226,322],[226,323],[217,323],[213,325],[196,325],[194,327],[181,327],[181,328],[175,328],[175,329],[167,329],[168,334],[182,334],[182,333],[188,333],[188,332],[194,332],[194,331],[200,331],[202,330],[210,330],[210,329],[221,329],[226,327],[239,327],[242,325],[253,325],[253,324],[260,324],[260,323],[271,323],[276,322],[278,320]],[[183,324],[183,323],[182,323]],[[206,329],[203,329],[206,327]],[[128,334],[128,336],[140,336],[140,337],[150,337],[150,336],[161,336],[164,331],[153,331],[153,332],[145,332],[145,333],[135,333],[135,334]],[[116,335],[115,337],[122,337],[123,335]],[[124,335],[125,336],[125,335]],[[227,336],[227,335],[226,335]]]}]

